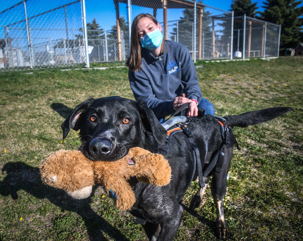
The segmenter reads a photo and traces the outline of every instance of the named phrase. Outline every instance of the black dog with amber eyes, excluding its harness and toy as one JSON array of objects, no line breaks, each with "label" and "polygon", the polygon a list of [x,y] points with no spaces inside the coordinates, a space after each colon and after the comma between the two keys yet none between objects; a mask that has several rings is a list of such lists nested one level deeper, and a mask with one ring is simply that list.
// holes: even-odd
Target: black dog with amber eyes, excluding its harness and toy
[{"label": "black dog with amber eyes, excluding its harness and toy", "polygon": [[[226,116],[230,143],[225,148],[225,157],[220,173],[213,172],[211,194],[217,208],[217,235],[228,235],[223,211],[223,198],[226,193],[226,176],[236,143],[232,127],[247,127],[269,121],[291,108],[269,108],[251,111],[237,116]],[[221,129],[215,117],[206,115],[201,121],[188,124],[194,141],[205,165],[222,143]],[[115,161],[128,153],[134,146],[143,147],[158,153],[158,145],[163,145],[166,130],[143,101],[132,101],[118,96],[100,99],[90,98],[79,104],[62,124],[63,139],[70,129],[80,130],[82,152],[91,160]],[[183,208],[181,198],[191,184],[195,161],[188,138],[176,133],[171,140],[168,162],[171,166],[171,182],[164,187],[142,182],[132,183],[136,195],[134,215],[143,216],[143,225],[150,240],[173,240],[180,226]],[[195,176],[196,177],[196,176]],[[204,178],[207,185],[209,177]],[[193,198],[191,208],[198,207],[204,188]]]}]

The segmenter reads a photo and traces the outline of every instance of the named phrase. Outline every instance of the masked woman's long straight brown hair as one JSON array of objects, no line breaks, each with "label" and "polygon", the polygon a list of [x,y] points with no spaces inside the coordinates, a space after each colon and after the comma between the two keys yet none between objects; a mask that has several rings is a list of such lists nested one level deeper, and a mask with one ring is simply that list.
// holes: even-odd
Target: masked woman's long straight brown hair
[{"label": "masked woman's long straight brown hair", "polygon": [[[131,49],[129,51],[129,56],[126,61],[126,66],[133,72],[141,69],[141,48],[142,45],[138,37],[138,22],[141,18],[150,18],[156,25],[158,24],[157,19],[148,13],[141,13],[135,17],[132,22],[132,33],[131,33]],[[164,41],[161,43],[161,54],[164,51]]]}]

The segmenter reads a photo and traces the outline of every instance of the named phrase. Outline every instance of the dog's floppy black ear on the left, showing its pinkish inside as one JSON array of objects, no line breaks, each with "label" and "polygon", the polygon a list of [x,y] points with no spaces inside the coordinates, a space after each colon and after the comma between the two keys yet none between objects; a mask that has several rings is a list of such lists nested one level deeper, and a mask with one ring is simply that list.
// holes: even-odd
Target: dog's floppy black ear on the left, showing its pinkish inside
[{"label": "dog's floppy black ear on the left, showing its pinkish inside", "polygon": [[81,104],[78,104],[72,113],[62,123],[61,128],[63,130],[63,139],[65,139],[70,129],[80,129],[80,123],[83,117],[82,114],[85,113],[94,100],[94,98],[89,98],[86,101],[83,101]]}]

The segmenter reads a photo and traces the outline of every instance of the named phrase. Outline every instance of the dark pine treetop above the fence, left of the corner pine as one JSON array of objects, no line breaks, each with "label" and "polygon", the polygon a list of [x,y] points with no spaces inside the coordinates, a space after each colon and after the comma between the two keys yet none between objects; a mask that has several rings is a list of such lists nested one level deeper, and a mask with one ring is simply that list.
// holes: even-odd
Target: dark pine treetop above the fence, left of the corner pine
[{"label": "dark pine treetop above the fence, left of the corner pine", "polygon": [[256,16],[257,3],[251,3],[251,0],[233,0],[230,11],[234,11],[234,16],[246,16],[254,18]]}]

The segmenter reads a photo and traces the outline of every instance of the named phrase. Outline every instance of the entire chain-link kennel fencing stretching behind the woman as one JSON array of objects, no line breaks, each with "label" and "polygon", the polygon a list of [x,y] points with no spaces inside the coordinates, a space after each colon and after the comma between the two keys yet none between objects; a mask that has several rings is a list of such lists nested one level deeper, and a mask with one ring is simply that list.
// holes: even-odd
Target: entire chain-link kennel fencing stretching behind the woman
[{"label": "entire chain-link kennel fencing stretching behind the woman", "polygon": [[0,12],[0,70],[122,65],[140,13],[155,16],[165,39],[185,45],[194,61],[278,56],[281,26],[201,1],[110,0],[110,9],[89,1],[102,21],[86,24],[85,0],[24,0]]}]

